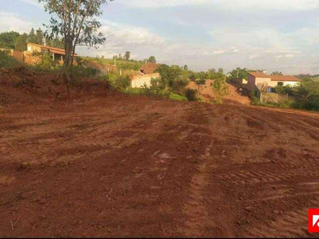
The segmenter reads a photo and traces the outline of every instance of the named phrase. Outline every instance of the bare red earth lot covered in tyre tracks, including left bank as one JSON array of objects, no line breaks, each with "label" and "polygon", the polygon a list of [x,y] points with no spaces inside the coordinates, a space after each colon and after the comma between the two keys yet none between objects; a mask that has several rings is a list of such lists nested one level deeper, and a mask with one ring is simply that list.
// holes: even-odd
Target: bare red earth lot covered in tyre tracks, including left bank
[{"label": "bare red earth lot covered in tyre tracks, including left bank", "polygon": [[25,74],[0,73],[0,237],[319,236],[318,114],[93,81],[61,100],[54,76],[9,84]]}]

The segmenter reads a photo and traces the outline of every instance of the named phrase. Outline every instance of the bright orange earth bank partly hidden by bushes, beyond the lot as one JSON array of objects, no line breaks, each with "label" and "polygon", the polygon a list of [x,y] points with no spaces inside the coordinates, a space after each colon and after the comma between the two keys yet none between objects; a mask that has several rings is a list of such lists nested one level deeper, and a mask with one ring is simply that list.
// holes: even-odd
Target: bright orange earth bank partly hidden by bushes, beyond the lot
[{"label": "bright orange earth bank partly hidden by bushes, beyond the lot", "polygon": [[[210,102],[211,100],[213,100],[215,98],[215,95],[212,91],[211,88],[211,83],[213,83],[214,80],[206,80],[206,85],[205,87],[202,89],[202,91],[200,92],[201,97]],[[240,104],[240,105],[250,105],[250,99],[247,96],[241,96],[238,93],[238,89],[237,87],[227,83],[228,85],[228,95],[225,96],[223,98],[223,102],[226,104]],[[196,89],[197,90],[197,86],[194,82],[190,82],[187,86],[190,89]]]}]

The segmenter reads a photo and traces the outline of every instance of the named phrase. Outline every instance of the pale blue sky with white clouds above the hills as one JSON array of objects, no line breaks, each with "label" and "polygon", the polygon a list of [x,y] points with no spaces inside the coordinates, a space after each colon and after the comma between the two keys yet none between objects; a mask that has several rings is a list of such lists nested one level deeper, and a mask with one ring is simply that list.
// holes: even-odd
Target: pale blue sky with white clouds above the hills
[{"label": "pale blue sky with white clouds above the hills", "polygon": [[[103,10],[101,31],[112,36],[79,54],[129,50],[197,71],[319,73],[319,0],[115,0]],[[29,32],[48,19],[37,0],[0,0],[0,31]]]}]

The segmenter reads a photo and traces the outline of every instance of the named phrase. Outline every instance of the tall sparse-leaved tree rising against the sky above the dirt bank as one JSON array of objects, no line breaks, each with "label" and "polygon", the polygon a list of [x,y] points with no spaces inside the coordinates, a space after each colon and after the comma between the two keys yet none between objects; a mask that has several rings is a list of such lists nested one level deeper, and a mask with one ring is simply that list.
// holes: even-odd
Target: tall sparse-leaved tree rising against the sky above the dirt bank
[{"label": "tall sparse-leaved tree rising against the sky above the dirt bank", "polygon": [[64,66],[73,64],[76,46],[98,47],[106,38],[97,20],[102,15],[101,6],[112,0],[39,0],[45,11],[51,14],[50,38],[62,36],[64,39]]}]

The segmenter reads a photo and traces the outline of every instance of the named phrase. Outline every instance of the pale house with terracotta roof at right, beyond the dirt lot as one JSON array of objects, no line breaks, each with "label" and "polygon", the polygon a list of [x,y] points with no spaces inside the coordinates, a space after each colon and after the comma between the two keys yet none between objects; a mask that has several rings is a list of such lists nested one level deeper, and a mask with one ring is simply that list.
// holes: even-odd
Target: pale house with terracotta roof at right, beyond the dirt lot
[{"label": "pale house with terracotta roof at right, beyond the dirt lot", "polygon": [[250,88],[253,88],[253,86],[259,88],[261,85],[267,85],[268,87],[296,86],[301,81],[301,79],[295,76],[266,75],[263,72],[248,72],[247,85],[249,85]]}]

